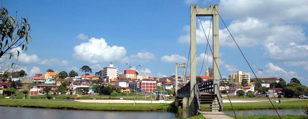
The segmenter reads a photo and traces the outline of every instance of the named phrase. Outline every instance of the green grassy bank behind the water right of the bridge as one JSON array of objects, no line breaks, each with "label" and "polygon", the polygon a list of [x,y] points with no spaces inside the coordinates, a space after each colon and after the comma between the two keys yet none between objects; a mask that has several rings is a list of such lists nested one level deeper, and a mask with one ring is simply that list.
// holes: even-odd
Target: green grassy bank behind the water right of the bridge
[{"label": "green grassy bank behind the water right of the bridge", "polygon": [[[308,108],[308,100],[303,101],[287,101],[282,103],[273,103],[276,109],[306,109]],[[251,110],[251,109],[273,109],[270,102],[246,102],[232,103],[235,110]],[[230,103],[223,103],[225,111],[232,110]]]}]

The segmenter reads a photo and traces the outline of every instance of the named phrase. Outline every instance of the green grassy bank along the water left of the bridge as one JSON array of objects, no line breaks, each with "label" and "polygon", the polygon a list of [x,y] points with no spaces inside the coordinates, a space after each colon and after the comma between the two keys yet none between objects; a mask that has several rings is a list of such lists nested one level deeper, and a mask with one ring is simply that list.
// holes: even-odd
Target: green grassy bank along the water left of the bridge
[{"label": "green grassy bank along the water left of the bridge", "polygon": [[0,99],[0,106],[53,109],[84,109],[101,111],[169,111],[172,104],[84,103],[59,100]]}]

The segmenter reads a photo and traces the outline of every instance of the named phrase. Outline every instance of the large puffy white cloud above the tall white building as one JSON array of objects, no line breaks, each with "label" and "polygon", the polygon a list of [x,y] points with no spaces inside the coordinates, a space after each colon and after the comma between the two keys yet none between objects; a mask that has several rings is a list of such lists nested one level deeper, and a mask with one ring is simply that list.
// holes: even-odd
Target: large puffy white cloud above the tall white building
[{"label": "large puffy white cloud above the tall white building", "polygon": [[75,46],[74,52],[75,59],[97,64],[121,61],[126,54],[126,49],[119,46],[108,46],[103,38],[91,38],[88,42]]}]

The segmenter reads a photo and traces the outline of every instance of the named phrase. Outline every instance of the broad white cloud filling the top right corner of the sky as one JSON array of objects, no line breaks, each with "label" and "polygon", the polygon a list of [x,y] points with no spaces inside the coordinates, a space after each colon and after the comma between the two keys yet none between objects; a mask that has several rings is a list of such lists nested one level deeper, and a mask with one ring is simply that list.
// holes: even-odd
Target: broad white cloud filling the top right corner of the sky
[{"label": "broad white cloud filling the top right corner of the sky", "polygon": [[305,0],[221,0],[219,12],[225,18],[262,18],[277,22],[308,22],[308,2]]}]

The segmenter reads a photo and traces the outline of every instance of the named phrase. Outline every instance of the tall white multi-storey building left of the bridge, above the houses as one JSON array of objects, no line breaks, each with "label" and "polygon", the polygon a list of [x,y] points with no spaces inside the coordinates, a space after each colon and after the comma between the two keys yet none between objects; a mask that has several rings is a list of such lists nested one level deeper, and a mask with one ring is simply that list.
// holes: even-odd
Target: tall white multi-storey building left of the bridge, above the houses
[{"label": "tall white multi-storey building left of the bridge, above the houses", "polygon": [[110,83],[110,79],[117,79],[118,78],[118,68],[114,67],[112,62],[109,66],[104,67],[102,70],[102,78],[104,81]]}]

